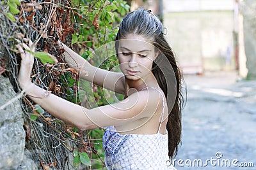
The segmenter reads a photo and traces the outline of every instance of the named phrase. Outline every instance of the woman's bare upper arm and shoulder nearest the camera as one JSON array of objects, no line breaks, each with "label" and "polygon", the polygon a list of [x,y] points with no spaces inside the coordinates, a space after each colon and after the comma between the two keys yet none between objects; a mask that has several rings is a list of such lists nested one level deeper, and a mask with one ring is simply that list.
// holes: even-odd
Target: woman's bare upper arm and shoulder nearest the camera
[{"label": "woman's bare upper arm and shoulder nearest the camera", "polygon": [[[86,114],[94,124],[100,127],[124,125],[141,118],[152,117],[163,102],[159,91],[145,89],[133,92],[123,101],[93,108]],[[92,124],[91,128],[95,128]]]}]

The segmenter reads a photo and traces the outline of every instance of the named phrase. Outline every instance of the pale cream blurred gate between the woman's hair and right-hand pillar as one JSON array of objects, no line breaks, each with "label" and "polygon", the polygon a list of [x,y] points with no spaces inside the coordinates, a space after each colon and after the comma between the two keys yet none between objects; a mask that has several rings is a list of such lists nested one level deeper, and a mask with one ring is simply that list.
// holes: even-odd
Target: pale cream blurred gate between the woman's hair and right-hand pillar
[{"label": "pale cream blurred gate between the woman's hair and right-hand pillar", "polygon": [[236,69],[235,8],[233,0],[164,1],[167,39],[184,73]]}]

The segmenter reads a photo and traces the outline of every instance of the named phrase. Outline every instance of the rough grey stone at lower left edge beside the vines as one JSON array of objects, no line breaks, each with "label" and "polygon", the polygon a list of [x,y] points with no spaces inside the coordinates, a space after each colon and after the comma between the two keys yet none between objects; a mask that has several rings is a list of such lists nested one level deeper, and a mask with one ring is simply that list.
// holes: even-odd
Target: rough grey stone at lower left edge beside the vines
[{"label": "rough grey stone at lower left edge beside the vines", "polygon": [[[0,76],[0,106],[15,96],[8,78]],[[34,169],[33,163],[24,157],[25,131],[20,101],[0,110],[0,115],[0,169]]]}]

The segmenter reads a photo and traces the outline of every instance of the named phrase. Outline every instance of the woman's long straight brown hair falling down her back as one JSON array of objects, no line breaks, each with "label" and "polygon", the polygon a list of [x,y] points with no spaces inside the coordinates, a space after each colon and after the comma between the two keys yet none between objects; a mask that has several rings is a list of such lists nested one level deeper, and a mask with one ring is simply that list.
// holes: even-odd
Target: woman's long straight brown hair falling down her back
[{"label": "woman's long straight brown hair falling down her back", "polygon": [[[153,62],[152,73],[156,77],[159,87],[163,90],[168,104],[169,115],[166,129],[168,131],[169,157],[175,157],[181,135],[182,76],[172,48],[164,39],[163,24],[151,11],[139,8],[124,17],[116,35],[116,42],[125,38],[127,34],[139,34],[152,39],[152,44],[159,52]],[[116,44],[116,50],[117,47],[118,44]]]}]

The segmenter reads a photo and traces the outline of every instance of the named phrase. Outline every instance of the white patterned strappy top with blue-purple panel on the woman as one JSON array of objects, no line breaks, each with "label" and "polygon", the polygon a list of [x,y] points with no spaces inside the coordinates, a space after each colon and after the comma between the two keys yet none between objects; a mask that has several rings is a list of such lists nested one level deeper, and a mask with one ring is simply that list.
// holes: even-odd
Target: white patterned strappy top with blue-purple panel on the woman
[{"label": "white patterned strappy top with blue-purple panel on the woman", "polygon": [[163,113],[157,134],[120,134],[114,126],[107,127],[103,136],[106,167],[108,169],[175,169],[168,161],[167,130],[166,134],[159,132],[162,121]]}]

